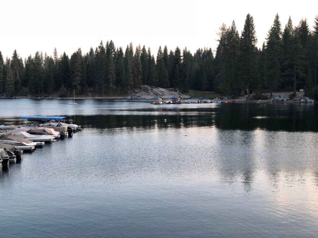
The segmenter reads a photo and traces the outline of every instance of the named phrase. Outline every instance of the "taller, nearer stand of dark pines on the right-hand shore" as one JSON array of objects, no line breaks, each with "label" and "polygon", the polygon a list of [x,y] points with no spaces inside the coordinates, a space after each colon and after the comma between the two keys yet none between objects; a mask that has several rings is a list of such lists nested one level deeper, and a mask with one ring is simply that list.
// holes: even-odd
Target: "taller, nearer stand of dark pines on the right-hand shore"
[{"label": "taller, nearer stand of dark pines on the right-hand shore", "polygon": [[[282,31],[278,14],[268,31],[266,42],[257,49],[253,17],[246,17],[241,36],[233,21],[220,27],[214,60],[215,89],[225,95],[248,92],[294,91],[313,94],[317,84],[318,16],[314,31],[306,19],[294,27],[289,17]],[[311,95],[313,96],[313,95]]]}]

